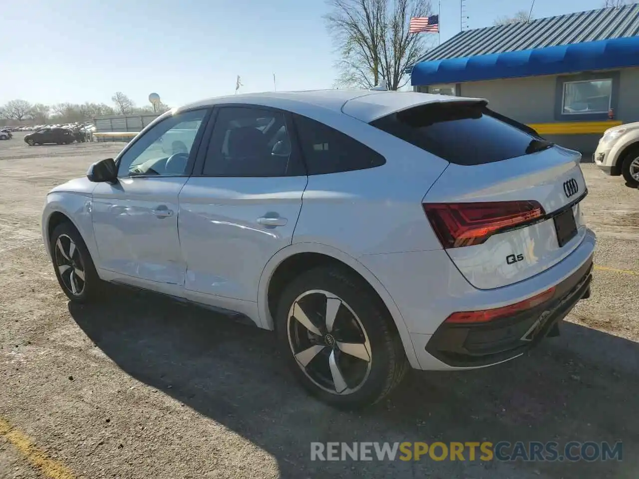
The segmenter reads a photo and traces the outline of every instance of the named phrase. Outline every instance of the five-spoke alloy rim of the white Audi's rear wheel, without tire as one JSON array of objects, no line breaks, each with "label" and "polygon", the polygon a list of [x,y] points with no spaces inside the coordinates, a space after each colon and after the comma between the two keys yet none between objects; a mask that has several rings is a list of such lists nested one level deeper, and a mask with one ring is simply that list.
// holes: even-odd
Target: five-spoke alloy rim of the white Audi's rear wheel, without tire
[{"label": "five-spoke alloy rim of the white Audi's rear wheel, without tire", "polygon": [[362,322],[335,294],[312,290],[293,301],[287,333],[295,360],[319,388],[347,395],[371,372],[371,344]]}]

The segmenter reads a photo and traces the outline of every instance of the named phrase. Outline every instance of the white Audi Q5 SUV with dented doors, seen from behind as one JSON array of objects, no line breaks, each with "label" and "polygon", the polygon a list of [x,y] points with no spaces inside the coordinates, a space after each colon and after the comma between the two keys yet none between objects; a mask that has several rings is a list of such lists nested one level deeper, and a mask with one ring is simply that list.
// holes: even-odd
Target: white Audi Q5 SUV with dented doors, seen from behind
[{"label": "white Audi Q5 SUV with dented doors, seen from behind", "polygon": [[341,407],[409,365],[520,356],[589,296],[595,236],[579,153],[486,103],[332,90],[167,112],[47,195],[59,284],[240,312]]}]

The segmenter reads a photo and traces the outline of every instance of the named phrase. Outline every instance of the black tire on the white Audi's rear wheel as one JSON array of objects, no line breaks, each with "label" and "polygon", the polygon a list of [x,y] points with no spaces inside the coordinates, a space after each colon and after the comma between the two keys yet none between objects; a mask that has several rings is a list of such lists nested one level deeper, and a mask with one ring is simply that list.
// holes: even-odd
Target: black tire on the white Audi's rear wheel
[{"label": "black tire on the white Audi's rear wheel", "polygon": [[[296,300],[300,300],[298,305],[301,305],[302,301],[311,301],[311,303],[304,303],[304,308],[310,310],[310,304],[320,305],[323,298],[326,312],[327,296],[321,293],[309,293],[318,290],[330,293],[341,301],[335,309],[337,313],[332,330],[327,330],[325,320],[319,318],[319,315],[312,316],[314,323],[318,323],[317,329],[323,328],[321,333],[325,334],[324,336],[309,332],[295,317],[291,317],[289,321],[289,312],[293,311]],[[332,298],[331,301],[335,299]],[[326,316],[328,314],[325,314]],[[357,409],[379,402],[401,382],[408,370],[409,365],[403,344],[389,312],[371,286],[345,268],[319,267],[296,277],[282,292],[275,323],[279,348],[288,367],[306,390],[332,406],[341,409]],[[357,333],[355,331],[357,328],[364,332]],[[300,329],[307,333],[307,337],[298,333]],[[356,335],[360,334],[360,338],[366,338],[366,344],[357,344],[357,346],[367,345],[368,360],[362,360],[342,351],[344,343],[355,346],[353,343],[362,342],[361,339],[353,339],[353,332]],[[332,337],[331,333],[335,334],[335,337]],[[348,335],[348,341],[344,340],[345,335]],[[328,336],[332,337],[332,341],[327,338]],[[298,339],[302,342],[307,340],[310,342],[298,348]],[[309,351],[311,348],[321,348],[321,351],[314,353],[304,367],[296,360],[296,354],[300,357],[300,352]],[[344,387],[348,386],[342,390],[342,393],[336,391],[337,381],[330,370],[331,356],[333,366],[339,365],[338,369],[344,373],[341,375],[344,379]],[[327,361],[325,366],[324,360]],[[362,373],[364,367],[367,369],[365,374]],[[318,376],[316,370],[317,374],[321,370],[325,370],[325,373],[323,376],[321,374]],[[355,376],[347,378],[346,372],[353,372]],[[328,379],[329,375],[330,379]],[[346,379],[354,379],[354,381]]]}]

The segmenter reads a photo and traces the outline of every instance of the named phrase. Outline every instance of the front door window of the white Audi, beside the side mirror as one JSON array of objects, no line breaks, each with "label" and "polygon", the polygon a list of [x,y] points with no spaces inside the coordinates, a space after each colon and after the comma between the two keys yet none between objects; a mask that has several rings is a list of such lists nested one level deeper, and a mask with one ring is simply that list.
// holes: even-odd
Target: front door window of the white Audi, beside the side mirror
[{"label": "front door window of the white Audi, beside the side mirror", "polygon": [[118,176],[181,176],[207,110],[169,116],[144,133],[119,159]]}]

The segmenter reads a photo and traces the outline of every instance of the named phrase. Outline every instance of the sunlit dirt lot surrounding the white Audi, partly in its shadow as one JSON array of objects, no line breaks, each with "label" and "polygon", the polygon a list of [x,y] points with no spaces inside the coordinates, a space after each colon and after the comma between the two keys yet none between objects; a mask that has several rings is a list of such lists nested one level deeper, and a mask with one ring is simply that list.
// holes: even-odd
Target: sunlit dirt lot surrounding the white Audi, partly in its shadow
[{"label": "sunlit dirt lot surrounding the white Audi, partly in its shadow", "polygon": [[[0,142],[1,478],[636,478],[639,190],[584,164],[592,298],[526,357],[415,372],[341,413],[282,369],[272,334],[113,288],[69,305],[40,238],[52,186],[121,144]],[[311,462],[311,441],[624,441],[622,462]]]}]

